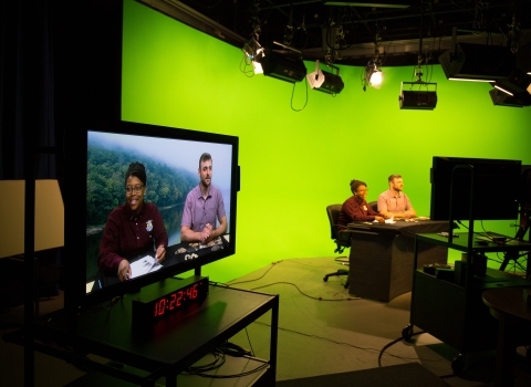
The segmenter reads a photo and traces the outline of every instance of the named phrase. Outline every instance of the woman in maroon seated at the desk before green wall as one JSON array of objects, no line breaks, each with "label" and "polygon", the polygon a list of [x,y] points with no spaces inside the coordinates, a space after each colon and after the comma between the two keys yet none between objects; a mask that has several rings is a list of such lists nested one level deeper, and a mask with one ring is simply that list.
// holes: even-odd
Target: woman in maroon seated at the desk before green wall
[{"label": "woman in maroon seated at the desk before green wall", "polygon": [[337,231],[346,229],[352,221],[373,221],[385,222],[379,212],[374,211],[365,201],[367,196],[367,185],[364,181],[352,180],[351,191],[354,194],[345,200],[341,207],[340,219],[337,220]]}]

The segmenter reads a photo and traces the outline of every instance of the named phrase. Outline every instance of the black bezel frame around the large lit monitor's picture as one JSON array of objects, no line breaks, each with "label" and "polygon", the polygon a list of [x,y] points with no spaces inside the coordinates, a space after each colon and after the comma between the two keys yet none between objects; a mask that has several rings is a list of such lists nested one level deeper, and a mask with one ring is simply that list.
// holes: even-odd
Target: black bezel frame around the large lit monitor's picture
[{"label": "black bezel frame around the large lit monitor's picture", "polygon": [[[160,269],[149,275],[135,279],[135,281],[124,282],[119,285],[106,286],[92,293],[86,293],[86,261],[84,254],[84,251],[86,250],[86,224],[84,216],[86,213],[88,132],[116,133],[231,145],[231,206],[230,222],[228,224],[230,242],[228,245],[221,250],[200,257],[197,260],[185,261],[177,265]],[[190,270],[195,270],[195,272],[198,273],[202,265],[235,254],[237,240],[237,192],[240,189],[238,165],[239,138],[237,136],[119,121],[87,123],[83,125],[82,128],[67,133],[65,137],[66,189],[64,197],[64,245],[66,255],[65,274],[67,278],[67,281],[65,281],[65,308],[72,307],[77,310],[80,307],[87,307],[97,303],[106,302],[114,296],[135,293],[148,284]],[[83,259],[76,258],[79,257],[80,251],[83,252]]]}]

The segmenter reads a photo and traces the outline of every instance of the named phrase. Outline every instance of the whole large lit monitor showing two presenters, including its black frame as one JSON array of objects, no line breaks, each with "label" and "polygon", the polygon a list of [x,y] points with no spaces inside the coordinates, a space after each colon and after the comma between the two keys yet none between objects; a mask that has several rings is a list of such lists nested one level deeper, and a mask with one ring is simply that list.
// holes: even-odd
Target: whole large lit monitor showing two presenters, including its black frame
[{"label": "whole large lit monitor showing two presenters, including its black frame", "polygon": [[[75,205],[76,212],[85,212],[76,231],[66,226],[65,232],[65,245],[83,251],[82,263],[70,265],[76,281],[83,278],[83,295],[74,286],[77,305],[137,292],[189,270],[197,273],[235,253],[237,137],[126,122],[88,125],[85,136],[80,159],[86,189],[70,207],[65,202],[66,211]],[[181,226],[200,239],[183,238]],[[125,276],[119,275],[124,263]]]}]

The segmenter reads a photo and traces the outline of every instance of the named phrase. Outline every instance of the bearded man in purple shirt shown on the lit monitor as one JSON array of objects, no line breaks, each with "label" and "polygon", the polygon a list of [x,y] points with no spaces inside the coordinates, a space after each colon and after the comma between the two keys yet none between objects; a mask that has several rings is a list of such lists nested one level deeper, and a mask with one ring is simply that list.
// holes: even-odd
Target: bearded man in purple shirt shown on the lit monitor
[{"label": "bearded man in purple shirt shown on the lit monitor", "polygon": [[[199,157],[199,185],[188,192],[180,221],[183,242],[208,243],[227,231],[223,197],[211,184],[212,157],[204,153]],[[216,220],[219,227],[216,227]]]}]

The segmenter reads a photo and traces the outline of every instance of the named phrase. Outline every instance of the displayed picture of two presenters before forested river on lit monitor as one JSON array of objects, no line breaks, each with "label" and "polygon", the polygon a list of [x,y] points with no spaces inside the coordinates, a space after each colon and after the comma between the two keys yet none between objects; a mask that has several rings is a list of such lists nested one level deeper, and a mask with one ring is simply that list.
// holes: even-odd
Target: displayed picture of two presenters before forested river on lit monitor
[{"label": "displayed picture of two presenters before forested river on lit monitor", "polygon": [[[200,260],[226,248],[230,241],[232,150],[230,144],[88,132],[86,292]],[[201,175],[200,166],[210,169]],[[208,181],[205,200],[197,194],[201,181]],[[201,203],[200,215],[191,197]],[[183,241],[181,223],[190,219],[195,223],[214,219],[207,227],[217,229],[219,237],[211,231],[210,238]],[[197,231],[196,226],[190,228]],[[155,257],[163,244],[164,260],[158,263]],[[124,260],[128,271],[121,276],[118,263]]]}]

